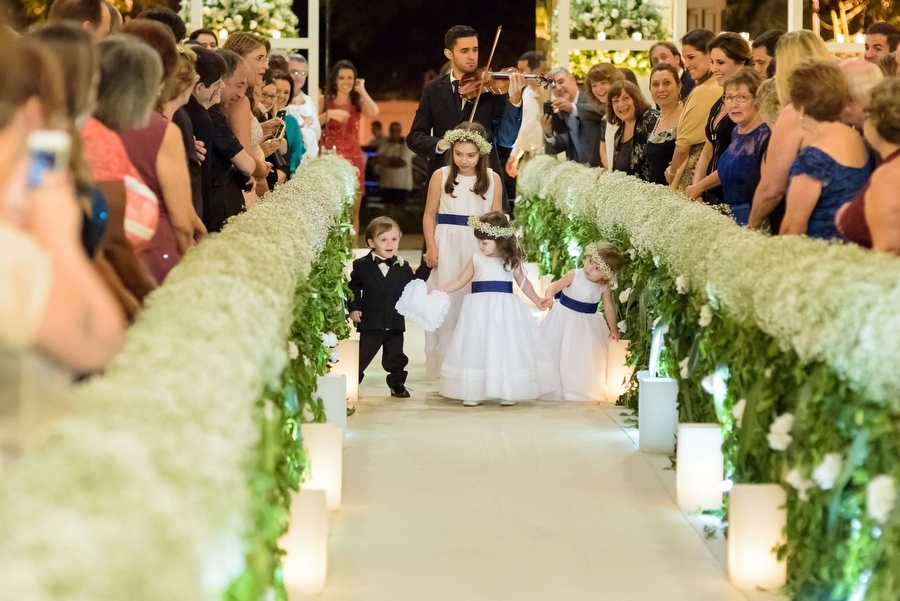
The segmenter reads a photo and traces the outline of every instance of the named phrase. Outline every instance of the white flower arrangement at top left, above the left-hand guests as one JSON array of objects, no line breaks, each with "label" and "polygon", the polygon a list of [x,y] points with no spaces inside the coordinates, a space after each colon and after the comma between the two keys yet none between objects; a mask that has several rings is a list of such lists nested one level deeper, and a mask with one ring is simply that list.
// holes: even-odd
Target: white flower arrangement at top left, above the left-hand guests
[{"label": "white flower arrangement at top left, above the left-hand guests", "polygon": [[[181,18],[190,21],[191,3],[181,3]],[[291,0],[203,0],[203,27],[228,32],[251,31],[267,38],[297,37],[299,19]],[[196,25],[200,27],[200,25]]]}]

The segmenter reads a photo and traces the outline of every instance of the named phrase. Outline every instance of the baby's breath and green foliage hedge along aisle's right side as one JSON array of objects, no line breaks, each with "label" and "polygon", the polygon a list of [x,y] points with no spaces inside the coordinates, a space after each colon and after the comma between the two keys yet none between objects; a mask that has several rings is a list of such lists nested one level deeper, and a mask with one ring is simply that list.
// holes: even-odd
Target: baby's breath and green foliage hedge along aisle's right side
[{"label": "baby's breath and green foliage hedge along aisle's right side", "polygon": [[531,259],[561,276],[585,242],[615,243],[629,257],[629,361],[646,368],[665,328],[681,421],[721,424],[727,478],[787,488],[791,597],[900,598],[900,261],[766,237],[666,187],[550,157],[518,185]]}]

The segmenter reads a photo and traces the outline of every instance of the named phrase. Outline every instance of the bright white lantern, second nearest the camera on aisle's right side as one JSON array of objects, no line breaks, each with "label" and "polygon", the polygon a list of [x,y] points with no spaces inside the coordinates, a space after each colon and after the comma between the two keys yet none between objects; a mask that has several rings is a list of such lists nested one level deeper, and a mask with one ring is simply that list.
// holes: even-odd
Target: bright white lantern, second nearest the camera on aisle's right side
[{"label": "bright white lantern, second nearest the camera on aisle's right side", "polygon": [[718,424],[681,424],[675,453],[675,485],[683,511],[722,508],[722,428]]}]

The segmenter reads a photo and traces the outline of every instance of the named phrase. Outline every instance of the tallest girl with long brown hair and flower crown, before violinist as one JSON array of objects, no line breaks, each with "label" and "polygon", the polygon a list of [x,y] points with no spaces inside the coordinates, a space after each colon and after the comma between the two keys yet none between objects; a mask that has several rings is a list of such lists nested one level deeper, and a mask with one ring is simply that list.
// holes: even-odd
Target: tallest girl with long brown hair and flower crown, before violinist
[{"label": "tallest girl with long brown hair and flower crown, before violinist", "polygon": [[[500,175],[488,168],[491,144],[479,123],[463,123],[444,134],[449,149],[448,165],[435,171],[428,183],[422,231],[425,234],[425,263],[432,268],[428,289],[447,283],[462,271],[478,251],[471,215],[499,211],[502,206]],[[425,360],[429,378],[440,375],[447,345],[469,286],[450,295],[450,310],[441,327],[425,333]]]}]

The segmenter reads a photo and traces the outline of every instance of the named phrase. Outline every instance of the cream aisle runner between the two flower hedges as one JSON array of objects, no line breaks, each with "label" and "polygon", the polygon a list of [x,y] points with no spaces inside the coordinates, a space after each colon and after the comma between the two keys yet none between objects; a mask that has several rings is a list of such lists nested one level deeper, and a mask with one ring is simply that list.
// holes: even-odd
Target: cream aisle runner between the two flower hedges
[{"label": "cream aisle runner between the two flower hedges", "polygon": [[[380,356],[348,420],[321,601],[744,601],[635,443],[594,403],[412,398]],[[753,595],[754,599],[757,598]]]}]

